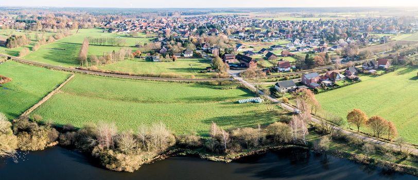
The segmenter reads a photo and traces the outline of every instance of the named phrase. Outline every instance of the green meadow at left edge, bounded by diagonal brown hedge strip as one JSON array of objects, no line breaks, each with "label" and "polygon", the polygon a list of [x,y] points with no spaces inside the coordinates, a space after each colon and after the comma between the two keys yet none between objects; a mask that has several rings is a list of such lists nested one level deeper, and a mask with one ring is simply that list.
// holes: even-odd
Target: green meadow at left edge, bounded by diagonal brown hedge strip
[{"label": "green meadow at left edge, bounded by diagonal brown hedge strip", "polygon": [[12,78],[0,86],[0,112],[10,119],[20,116],[68,77],[67,73],[14,61],[1,64],[0,75]]}]

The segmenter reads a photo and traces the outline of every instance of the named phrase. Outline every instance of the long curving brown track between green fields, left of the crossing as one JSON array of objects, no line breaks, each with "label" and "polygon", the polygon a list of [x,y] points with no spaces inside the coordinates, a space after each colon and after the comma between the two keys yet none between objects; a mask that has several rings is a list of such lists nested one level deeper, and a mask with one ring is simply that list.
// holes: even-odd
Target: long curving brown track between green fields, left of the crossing
[{"label": "long curving brown track between green fields, left of the crossing", "polygon": [[90,75],[106,76],[106,77],[138,79],[138,80],[155,80],[155,81],[196,81],[196,82],[230,80],[230,78],[190,79],[190,78],[158,78],[158,77],[145,77],[145,76],[118,75],[118,74],[100,73],[100,72],[95,72],[95,71],[91,71],[91,70],[81,70],[81,69],[75,69],[75,68],[68,68],[68,67],[44,64],[44,63],[40,63],[40,62],[24,60],[24,59],[21,59],[21,58],[8,56],[8,55],[3,55],[3,54],[0,54],[0,56],[7,57],[7,58],[10,58],[13,61],[24,63],[24,64],[29,64],[29,65],[41,66],[41,67],[46,67],[46,68],[55,69],[55,70],[63,70],[63,71],[71,72],[71,73],[82,73],[82,74],[90,74]]}]

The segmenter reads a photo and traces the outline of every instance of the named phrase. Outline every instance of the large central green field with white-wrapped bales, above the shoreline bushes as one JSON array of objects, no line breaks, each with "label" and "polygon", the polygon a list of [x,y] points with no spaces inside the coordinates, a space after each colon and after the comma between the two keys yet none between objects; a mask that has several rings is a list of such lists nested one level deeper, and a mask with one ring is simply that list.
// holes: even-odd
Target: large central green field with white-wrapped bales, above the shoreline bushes
[{"label": "large central green field with white-wrapped bales, above the shoreline bushes", "polygon": [[203,135],[212,121],[228,129],[277,120],[264,104],[236,103],[253,94],[245,89],[223,89],[227,86],[76,75],[33,114],[57,124],[81,127],[108,121],[115,122],[119,130],[134,131],[141,123],[161,121],[173,132]]}]

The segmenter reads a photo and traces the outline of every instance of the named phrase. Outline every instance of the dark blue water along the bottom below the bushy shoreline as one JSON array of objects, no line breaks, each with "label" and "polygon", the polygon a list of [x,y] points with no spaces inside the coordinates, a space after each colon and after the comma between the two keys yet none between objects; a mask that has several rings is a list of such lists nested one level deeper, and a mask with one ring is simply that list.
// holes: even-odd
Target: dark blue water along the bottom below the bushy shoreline
[{"label": "dark blue water along the bottom below the bushy shoreline", "polygon": [[171,157],[134,173],[102,169],[93,159],[60,147],[19,156],[18,164],[0,159],[0,179],[417,179],[306,150],[280,150],[230,164]]}]

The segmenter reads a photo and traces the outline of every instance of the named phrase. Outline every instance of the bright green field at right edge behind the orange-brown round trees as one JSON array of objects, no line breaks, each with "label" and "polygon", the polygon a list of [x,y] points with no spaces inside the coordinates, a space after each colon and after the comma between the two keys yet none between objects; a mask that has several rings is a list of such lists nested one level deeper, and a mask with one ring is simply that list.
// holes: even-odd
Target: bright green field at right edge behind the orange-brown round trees
[{"label": "bright green field at right edge behind the orange-brown round trees", "polygon": [[[362,77],[362,82],[316,95],[325,111],[341,117],[354,108],[369,117],[392,121],[400,136],[418,144],[418,68],[400,68],[380,77]],[[367,128],[362,131],[371,132]]]}]

